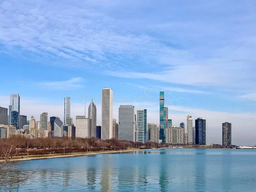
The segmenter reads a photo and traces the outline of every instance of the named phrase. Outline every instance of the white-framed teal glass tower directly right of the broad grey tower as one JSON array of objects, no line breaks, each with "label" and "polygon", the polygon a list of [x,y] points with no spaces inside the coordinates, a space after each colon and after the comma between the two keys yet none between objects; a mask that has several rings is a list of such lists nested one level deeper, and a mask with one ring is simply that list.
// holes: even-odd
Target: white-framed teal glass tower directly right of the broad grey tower
[{"label": "white-framed teal glass tower directly right of the broad grey tower", "polygon": [[147,109],[136,110],[136,141],[147,142]]}]

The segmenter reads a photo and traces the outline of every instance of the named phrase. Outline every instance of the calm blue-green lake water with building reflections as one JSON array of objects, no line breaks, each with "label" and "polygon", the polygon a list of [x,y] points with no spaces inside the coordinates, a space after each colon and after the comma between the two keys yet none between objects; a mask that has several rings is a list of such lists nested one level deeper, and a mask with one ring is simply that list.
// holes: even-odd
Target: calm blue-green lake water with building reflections
[{"label": "calm blue-green lake water with building reflections", "polygon": [[168,148],[20,162],[15,191],[256,191],[256,150]]}]

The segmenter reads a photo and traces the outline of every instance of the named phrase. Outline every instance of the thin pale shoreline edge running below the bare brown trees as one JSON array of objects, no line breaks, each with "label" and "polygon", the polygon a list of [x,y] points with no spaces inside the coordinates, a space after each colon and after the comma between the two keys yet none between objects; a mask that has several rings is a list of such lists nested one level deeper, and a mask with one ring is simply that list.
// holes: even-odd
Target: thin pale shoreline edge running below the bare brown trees
[{"label": "thin pale shoreline edge running below the bare brown trees", "polygon": [[[65,157],[74,157],[74,156],[84,156],[84,155],[97,155],[97,154],[106,154],[106,153],[125,153],[125,152],[131,152],[131,151],[140,151],[140,150],[156,150],[156,149],[164,149],[164,148],[153,148],[153,149],[128,149],[128,150],[124,150],[124,151],[96,151],[96,152],[86,152],[86,153],[81,153],[81,154],[67,154],[67,155],[59,155],[56,154],[56,156],[32,156],[32,157],[28,157],[28,158],[23,158],[20,159],[18,158],[14,158],[11,160],[11,162],[19,162],[19,161],[30,161],[30,160],[42,160],[42,159],[52,159],[52,158],[65,158]],[[27,156],[23,156],[23,157],[27,157]],[[3,160],[0,160],[0,162],[2,162]]]}]

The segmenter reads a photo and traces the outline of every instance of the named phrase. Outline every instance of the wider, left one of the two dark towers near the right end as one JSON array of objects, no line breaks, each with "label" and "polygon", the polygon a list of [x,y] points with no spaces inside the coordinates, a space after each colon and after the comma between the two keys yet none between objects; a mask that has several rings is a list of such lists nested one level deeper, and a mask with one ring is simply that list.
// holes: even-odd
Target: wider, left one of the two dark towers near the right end
[{"label": "wider, left one of the two dark towers near the right end", "polygon": [[205,119],[197,118],[195,126],[195,144],[206,145],[205,140]]}]

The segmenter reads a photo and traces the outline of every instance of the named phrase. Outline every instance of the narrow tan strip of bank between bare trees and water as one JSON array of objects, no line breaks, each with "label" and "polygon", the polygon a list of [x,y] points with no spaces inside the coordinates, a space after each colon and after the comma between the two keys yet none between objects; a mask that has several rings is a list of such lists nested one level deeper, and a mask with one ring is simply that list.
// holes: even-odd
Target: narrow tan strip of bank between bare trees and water
[{"label": "narrow tan strip of bank between bare trees and water", "polygon": [[[49,155],[37,155],[37,156],[17,156],[14,157],[11,161],[29,161],[29,160],[39,160],[39,159],[52,159],[52,158],[64,158],[64,157],[74,157],[74,156],[84,156],[84,155],[96,155],[96,154],[106,154],[106,153],[126,153],[130,151],[140,151],[140,150],[155,150],[155,149],[163,149],[163,148],[152,148],[152,149],[126,149],[126,150],[118,150],[118,151],[91,151],[91,152],[80,152],[80,153],[68,153],[66,155],[62,154],[49,154]],[[22,158],[23,157],[23,158]],[[3,162],[3,160],[0,160]]]}]

